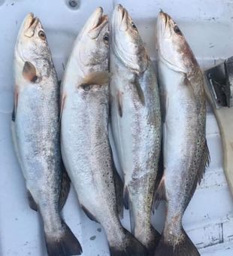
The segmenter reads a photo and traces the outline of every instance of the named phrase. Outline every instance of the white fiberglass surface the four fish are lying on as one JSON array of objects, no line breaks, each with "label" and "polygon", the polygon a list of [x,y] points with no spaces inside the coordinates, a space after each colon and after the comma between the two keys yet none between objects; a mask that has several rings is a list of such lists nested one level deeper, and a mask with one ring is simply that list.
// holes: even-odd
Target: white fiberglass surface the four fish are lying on
[{"label": "white fiberglass surface the four fish are lying on", "polygon": [[[233,1],[230,0],[149,0],[77,1],[0,0],[0,255],[44,256],[43,230],[37,212],[29,208],[23,175],[11,139],[13,108],[13,53],[17,32],[28,12],[41,19],[53,53],[59,80],[71,52],[74,38],[98,6],[110,14],[123,4],[132,14],[150,56],[156,61],[156,16],[160,9],[177,21],[186,35],[201,68],[207,69],[233,55]],[[233,254],[233,200],[222,169],[222,145],[212,111],[207,111],[207,143],[211,163],[183,216],[183,226],[201,255]],[[161,231],[165,206],[160,204],[153,224]],[[73,188],[62,211],[65,221],[83,246],[84,256],[107,256],[104,230],[90,221],[78,206]],[[129,228],[128,212],[123,219]]]}]

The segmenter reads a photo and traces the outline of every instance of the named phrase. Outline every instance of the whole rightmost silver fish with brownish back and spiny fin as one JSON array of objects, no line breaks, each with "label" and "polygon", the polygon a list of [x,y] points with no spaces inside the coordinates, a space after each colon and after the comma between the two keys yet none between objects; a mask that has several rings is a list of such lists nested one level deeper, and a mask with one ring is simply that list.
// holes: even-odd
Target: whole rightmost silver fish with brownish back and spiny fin
[{"label": "whole rightmost silver fish with brownish back and spiny fin", "polygon": [[204,81],[198,62],[168,14],[157,21],[164,175],[156,198],[167,202],[155,255],[200,255],[182,227],[183,212],[209,163]]}]

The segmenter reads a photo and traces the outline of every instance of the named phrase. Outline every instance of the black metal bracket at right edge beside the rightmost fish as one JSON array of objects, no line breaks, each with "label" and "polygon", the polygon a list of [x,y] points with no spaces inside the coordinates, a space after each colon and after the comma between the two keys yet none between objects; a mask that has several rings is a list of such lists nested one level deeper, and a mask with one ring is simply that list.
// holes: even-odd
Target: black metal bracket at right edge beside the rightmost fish
[{"label": "black metal bracket at right edge beside the rightmost fish", "polygon": [[204,72],[216,108],[233,106],[233,56]]}]

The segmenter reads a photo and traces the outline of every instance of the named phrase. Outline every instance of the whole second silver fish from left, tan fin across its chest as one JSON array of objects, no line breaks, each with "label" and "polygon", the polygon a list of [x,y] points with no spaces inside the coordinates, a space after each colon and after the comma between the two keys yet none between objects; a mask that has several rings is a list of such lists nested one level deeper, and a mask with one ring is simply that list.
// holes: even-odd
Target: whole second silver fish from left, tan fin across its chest
[{"label": "whole second silver fish from left, tan fin across its chest", "polygon": [[[62,81],[62,158],[80,206],[105,230],[110,254],[144,255],[120,223],[120,177],[108,139],[107,16],[97,8],[74,43]],[[120,191],[120,190],[117,191]]]}]

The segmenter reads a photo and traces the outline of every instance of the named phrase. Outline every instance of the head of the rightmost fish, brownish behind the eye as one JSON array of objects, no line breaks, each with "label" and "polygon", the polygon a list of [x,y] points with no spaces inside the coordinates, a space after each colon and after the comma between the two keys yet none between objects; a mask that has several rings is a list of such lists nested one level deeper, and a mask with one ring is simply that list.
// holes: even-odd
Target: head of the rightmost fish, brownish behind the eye
[{"label": "head of the rightmost fish, brownish behind the eye", "polygon": [[197,65],[183,33],[172,18],[160,11],[157,20],[157,44],[162,60],[177,72],[190,72]]}]

